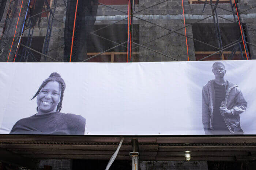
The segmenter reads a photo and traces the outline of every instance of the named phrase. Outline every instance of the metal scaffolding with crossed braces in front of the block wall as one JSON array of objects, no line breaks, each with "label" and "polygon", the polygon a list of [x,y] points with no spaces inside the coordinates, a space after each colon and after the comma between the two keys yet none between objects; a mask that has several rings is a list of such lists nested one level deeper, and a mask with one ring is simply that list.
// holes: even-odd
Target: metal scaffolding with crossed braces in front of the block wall
[{"label": "metal scaffolding with crossed braces in front of the block wall", "polygon": [[[55,62],[61,62],[61,61],[56,60],[53,57],[49,56],[48,53],[49,53],[49,51],[56,50],[57,48],[60,48],[60,47],[64,46],[64,44],[61,44],[60,46],[49,50],[49,42],[50,42],[50,38],[51,38],[51,34],[52,34],[53,21],[54,20],[59,21],[56,18],[54,18],[54,15],[55,15],[55,12],[56,12],[56,8],[60,7],[62,5],[65,5],[66,8],[67,8],[68,1],[66,2],[65,0],[61,0],[61,1],[63,1],[63,3],[57,5],[57,0],[53,0],[53,3],[52,3],[53,7],[50,7],[50,5],[48,4],[47,0],[44,0],[44,1],[45,1],[45,6],[46,6],[47,9],[45,11],[37,13],[36,15],[30,16],[30,14],[29,14],[29,6],[27,7],[27,12],[26,12],[27,16],[25,17],[26,19],[24,20],[24,23],[23,23],[23,28],[22,28],[22,32],[20,33],[20,40],[19,40],[19,44],[18,44],[18,46],[16,48],[15,56],[16,56],[16,53],[18,53],[20,46],[23,47],[23,50],[21,52],[19,51],[19,53],[18,53],[19,59],[16,59],[16,61],[15,61],[15,57],[14,57],[14,61],[13,62],[27,62],[27,59],[29,57],[32,58],[34,62],[39,62],[39,61],[36,61],[36,59],[34,58],[34,56],[33,56],[31,51],[37,52],[38,54],[41,54],[45,58],[52,59]],[[238,3],[237,3],[236,0],[229,0],[229,2],[230,2],[230,9],[231,10],[230,9],[225,9],[225,8],[222,8],[222,7],[219,6],[219,3],[221,1],[223,1],[223,0],[189,0],[189,3],[199,2],[199,3],[204,4],[203,7],[202,7],[202,13],[204,12],[206,5],[210,5],[211,6],[212,14],[207,16],[207,17],[205,17],[205,18],[203,18],[203,19],[197,20],[197,21],[195,21],[195,22],[193,22],[191,24],[185,25],[186,17],[185,17],[185,13],[184,13],[183,0],[181,0],[182,1],[182,9],[183,9],[183,17],[184,17],[184,27],[178,28],[176,30],[172,30],[172,29],[163,27],[163,26],[161,26],[159,24],[156,24],[156,23],[153,23],[153,22],[148,21],[146,19],[143,19],[142,17],[136,16],[136,14],[138,14],[141,11],[144,11],[146,9],[150,9],[150,8],[152,8],[154,6],[160,5],[160,4],[165,3],[167,1],[169,1],[169,0],[164,0],[162,2],[156,3],[154,5],[151,5],[150,7],[146,7],[144,9],[139,10],[139,11],[135,10],[134,0],[133,1],[129,1],[128,13],[125,12],[125,11],[116,9],[116,8],[112,7],[111,5],[105,5],[105,4],[99,3],[99,5],[102,5],[102,6],[106,7],[106,8],[110,8],[110,9],[113,9],[113,10],[118,11],[120,13],[123,13],[125,16],[128,16],[128,17],[125,17],[124,19],[118,20],[118,21],[116,21],[116,22],[114,22],[112,24],[108,24],[108,25],[106,25],[103,28],[91,31],[90,32],[91,35],[94,35],[94,36],[100,37],[101,39],[104,39],[104,40],[107,40],[109,42],[112,42],[112,43],[116,44],[116,46],[114,46],[112,48],[109,48],[108,50],[104,50],[102,52],[98,52],[97,54],[95,54],[95,55],[93,55],[93,56],[83,60],[82,62],[87,62],[87,61],[89,61],[89,60],[91,60],[91,59],[93,59],[93,58],[95,58],[97,56],[100,56],[102,54],[106,54],[106,52],[111,51],[112,49],[114,49],[116,47],[119,47],[119,46],[123,46],[123,47],[125,47],[127,49],[130,49],[131,48],[131,44],[133,44],[133,47],[131,48],[131,51],[127,50],[127,62],[131,61],[131,55],[133,54],[134,50],[136,48],[138,48],[138,47],[145,48],[146,50],[153,51],[153,52],[155,52],[155,53],[157,53],[159,55],[165,56],[165,57],[170,58],[172,60],[179,61],[178,59],[173,58],[172,56],[166,55],[166,54],[164,54],[161,51],[153,50],[151,48],[146,47],[146,44],[151,43],[153,41],[156,41],[158,39],[161,39],[162,37],[165,37],[165,36],[170,35],[172,33],[176,33],[176,34],[178,34],[180,36],[183,36],[186,39],[186,43],[187,43],[187,39],[191,39],[193,41],[197,41],[199,43],[202,43],[202,44],[204,44],[206,46],[215,48],[217,50],[217,51],[213,52],[212,54],[207,55],[206,57],[204,57],[204,58],[202,58],[200,60],[205,60],[205,59],[210,58],[211,56],[216,55],[216,54],[219,55],[219,59],[220,60],[224,60],[225,59],[224,56],[223,56],[223,54],[225,54],[224,50],[227,50],[229,48],[233,48],[233,49],[232,49],[232,51],[229,54],[227,59],[229,59],[229,60],[233,59],[234,55],[237,54],[238,51],[240,52],[241,59],[251,59],[250,56],[249,56],[248,44],[251,45],[251,46],[256,46],[256,45],[246,41],[246,37],[253,35],[255,33],[255,28],[251,28],[248,25],[243,24],[241,22],[240,14],[244,13],[244,12],[250,10],[250,9],[253,9],[256,6],[253,6],[251,8],[248,8],[248,9],[240,12],[239,11],[239,7],[238,7]],[[223,11],[230,12],[233,15],[234,20],[230,20],[230,19],[227,19],[225,17],[222,17],[221,15],[218,14],[217,9],[221,9]],[[45,40],[44,40],[43,50],[42,50],[42,52],[33,50],[31,48],[31,41],[33,39],[34,27],[32,27],[31,18],[35,17],[37,15],[41,15],[42,13],[48,12],[48,11],[49,11],[49,15],[47,17],[48,26],[47,26],[46,36],[45,36]],[[213,45],[211,45],[209,43],[197,40],[197,39],[187,35],[187,31],[186,31],[187,27],[189,27],[189,26],[191,26],[191,25],[193,25],[195,23],[199,23],[200,21],[209,19],[209,18],[212,18],[214,20],[215,34],[216,34],[216,39],[217,39],[217,42],[218,42],[217,46],[213,46]],[[234,41],[234,42],[232,42],[230,44],[227,44],[226,46],[223,46],[222,38],[221,38],[221,30],[220,30],[220,27],[219,27],[219,18],[222,18],[222,19],[227,20],[227,21],[232,22],[232,23],[237,23],[239,25],[240,33],[241,33],[240,39],[238,39],[238,40],[236,40],[236,41]],[[153,24],[153,25],[155,25],[155,26],[157,26],[159,28],[165,29],[169,33],[167,33],[167,34],[165,34],[163,36],[151,39],[150,41],[148,41],[146,43],[143,43],[143,44],[139,44],[139,43],[134,42],[132,40],[132,37],[129,37],[129,35],[132,35],[131,32],[128,32],[128,39],[127,39],[127,41],[124,41],[122,43],[117,43],[116,41],[107,39],[106,37],[103,37],[103,36],[100,36],[100,35],[96,34],[96,32],[99,31],[99,30],[102,30],[102,29],[104,29],[106,27],[109,27],[110,25],[114,25],[114,24],[117,24],[117,23],[119,23],[121,21],[125,21],[125,20],[129,21],[129,24],[130,24],[129,25],[129,31],[132,31],[132,24],[131,23],[132,23],[133,19],[137,19],[137,20],[141,20],[141,21],[144,21],[146,23],[149,23],[149,24]],[[26,24],[27,20],[28,20],[28,24]],[[63,23],[62,21],[59,21],[59,22]],[[27,25],[26,29],[24,28],[25,25]],[[130,26],[131,26],[131,29],[130,29]],[[254,32],[251,35],[245,35],[244,27],[252,29]],[[25,31],[27,29],[28,29],[28,38],[27,38],[27,41],[25,42],[25,41],[22,40],[22,36],[23,36],[23,31]],[[178,31],[180,31],[182,29],[185,30],[184,33],[179,33]],[[130,42],[130,44],[129,44],[129,42]],[[241,43],[242,43],[242,46],[241,46]],[[127,44],[127,45],[125,45],[125,44]],[[244,52],[243,52],[243,50],[244,50]],[[245,56],[244,56],[244,54],[245,54]],[[187,55],[188,55],[188,60],[189,60],[188,43],[187,43]],[[129,58],[129,60],[128,60],[128,58]]]}]

